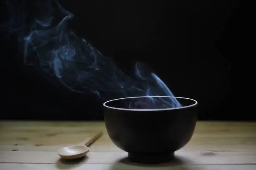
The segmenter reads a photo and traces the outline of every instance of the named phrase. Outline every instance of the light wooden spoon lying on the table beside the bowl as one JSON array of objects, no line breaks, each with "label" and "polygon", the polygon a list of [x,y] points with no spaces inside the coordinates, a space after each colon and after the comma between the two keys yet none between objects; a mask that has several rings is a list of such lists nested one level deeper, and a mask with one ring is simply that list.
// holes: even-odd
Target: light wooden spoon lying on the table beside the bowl
[{"label": "light wooden spoon lying on the table beside the bowl", "polygon": [[60,148],[58,151],[59,156],[63,159],[81,158],[89,152],[90,148],[88,148],[87,146],[100,138],[100,136],[102,136],[102,132],[93,134],[92,136],[78,143],[77,145]]}]

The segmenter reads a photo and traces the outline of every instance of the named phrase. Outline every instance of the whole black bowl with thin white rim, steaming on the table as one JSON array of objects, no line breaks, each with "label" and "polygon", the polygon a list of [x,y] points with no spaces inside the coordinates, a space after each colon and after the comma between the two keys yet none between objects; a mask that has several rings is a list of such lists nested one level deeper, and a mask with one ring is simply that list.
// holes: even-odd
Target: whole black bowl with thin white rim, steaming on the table
[{"label": "whole black bowl with thin white rim, steaming on the table", "polygon": [[[164,99],[166,96],[152,96]],[[105,102],[108,135],[128,158],[137,163],[162,163],[191,139],[197,122],[197,101],[173,97],[182,105],[164,109],[129,109],[127,103],[143,97],[127,97]],[[167,98],[166,98],[167,99]]]}]

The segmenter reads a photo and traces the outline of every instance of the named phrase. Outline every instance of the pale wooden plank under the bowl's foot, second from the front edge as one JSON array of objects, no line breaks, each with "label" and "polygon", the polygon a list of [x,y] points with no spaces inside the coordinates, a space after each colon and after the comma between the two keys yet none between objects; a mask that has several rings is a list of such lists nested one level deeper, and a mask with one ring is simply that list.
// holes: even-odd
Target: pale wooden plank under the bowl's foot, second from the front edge
[{"label": "pale wooden plank under the bowl's foot, second from the front edge", "polygon": [[[176,152],[177,159],[187,164],[256,164],[256,152]],[[113,164],[126,158],[127,153],[90,152],[81,162]],[[0,163],[57,163],[57,152],[0,151]]]}]

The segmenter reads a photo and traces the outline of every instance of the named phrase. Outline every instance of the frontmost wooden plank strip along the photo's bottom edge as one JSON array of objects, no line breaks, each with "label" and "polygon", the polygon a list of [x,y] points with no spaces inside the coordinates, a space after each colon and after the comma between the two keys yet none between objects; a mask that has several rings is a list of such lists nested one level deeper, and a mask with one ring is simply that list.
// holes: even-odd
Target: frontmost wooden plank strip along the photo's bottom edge
[{"label": "frontmost wooden plank strip along the photo's bottom edge", "polygon": [[167,164],[160,166],[153,165],[132,165],[117,163],[114,165],[59,165],[59,164],[6,164],[0,163],[1,170],[255,170],[256,165],[186,165]]}]

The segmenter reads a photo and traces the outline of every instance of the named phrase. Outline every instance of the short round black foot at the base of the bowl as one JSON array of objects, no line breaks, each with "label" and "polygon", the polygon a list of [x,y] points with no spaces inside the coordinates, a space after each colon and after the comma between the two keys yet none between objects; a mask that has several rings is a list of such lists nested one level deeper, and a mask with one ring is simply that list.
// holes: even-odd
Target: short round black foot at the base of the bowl
[{"label": "short round black foot at the base of the bowl", "polygon": [[165,163],[174,159],[174,153],[140,155],[137,153],[128,153],[128,158],[135,163]]}]

